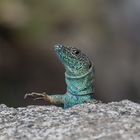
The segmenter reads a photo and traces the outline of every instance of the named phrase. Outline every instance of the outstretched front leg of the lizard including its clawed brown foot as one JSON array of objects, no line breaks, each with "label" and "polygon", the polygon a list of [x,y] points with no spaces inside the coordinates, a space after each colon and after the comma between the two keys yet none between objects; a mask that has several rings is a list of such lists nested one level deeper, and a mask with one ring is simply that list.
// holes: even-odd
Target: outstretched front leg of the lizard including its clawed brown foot
[{"label": "outstretched front leg of the lizard including its clawed brown foot", "polygon": [[54,105],[64,104],[63,95],[48,95],[45,92],[43,93],[32,92],[25,94],[24,99],[26,99],[28,96],[32,96],[34,100],[44,100],[49,104]]}]

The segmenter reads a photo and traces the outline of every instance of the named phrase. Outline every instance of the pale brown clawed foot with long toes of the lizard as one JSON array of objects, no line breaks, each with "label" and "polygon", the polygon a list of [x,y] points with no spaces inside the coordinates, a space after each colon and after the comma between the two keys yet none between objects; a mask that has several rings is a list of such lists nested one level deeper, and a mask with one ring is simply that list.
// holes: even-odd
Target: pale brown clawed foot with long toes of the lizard
[{"label": "pale brown clawed foot with long toes of the lizard", "polygon": [[33,97],[34,100],[44,100],[44,101],[50,102],[49,96],[45,92],[43,92],[43,93],[36,93],[36,92],[26,93],[24,96],[24,99],[26,99],[28,96]]}]

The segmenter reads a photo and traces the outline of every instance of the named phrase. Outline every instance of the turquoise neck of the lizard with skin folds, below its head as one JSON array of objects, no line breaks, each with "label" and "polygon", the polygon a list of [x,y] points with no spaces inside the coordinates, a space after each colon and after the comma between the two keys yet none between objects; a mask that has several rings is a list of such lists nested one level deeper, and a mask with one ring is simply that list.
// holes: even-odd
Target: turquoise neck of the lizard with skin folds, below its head
[{"label": "turquoise neck of the lizard with skin folds, below its head", "polygon": [[71,76],[65,72],[67,92],[74,95],[87,95],[94,93],[94,69],[93,66],[84,74]]}]

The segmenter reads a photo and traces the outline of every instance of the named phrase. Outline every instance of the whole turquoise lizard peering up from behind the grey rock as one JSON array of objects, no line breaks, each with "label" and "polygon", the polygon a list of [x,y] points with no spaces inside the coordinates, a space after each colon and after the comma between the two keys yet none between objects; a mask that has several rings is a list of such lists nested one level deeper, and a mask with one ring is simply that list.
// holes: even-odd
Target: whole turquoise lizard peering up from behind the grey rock
[{"label": "whole turquoise lizard peering up from behind the grey rock", "polygon": [[45,100],[49,104],[70,108],[76,104],[92,102],[95,93],[95,68],[89,57],[75,47],[55,45],[54,50],[65,68],[65,94],[26,93],[24,98],[32,96],[34,100]]}]

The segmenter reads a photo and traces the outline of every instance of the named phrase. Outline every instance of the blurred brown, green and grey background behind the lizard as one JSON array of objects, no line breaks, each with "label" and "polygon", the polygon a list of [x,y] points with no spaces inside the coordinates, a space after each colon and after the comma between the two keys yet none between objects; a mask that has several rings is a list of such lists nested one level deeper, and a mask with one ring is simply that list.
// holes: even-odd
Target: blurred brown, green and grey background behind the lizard
[{"label": "blurred brown, green and grey background behind the lizard", "polygon": [[86,52],[96,66],[95,98],[140,102],[139,0],[0,0],[0,103],[32,91],[65,93],[53,46]]}]

